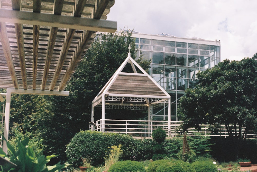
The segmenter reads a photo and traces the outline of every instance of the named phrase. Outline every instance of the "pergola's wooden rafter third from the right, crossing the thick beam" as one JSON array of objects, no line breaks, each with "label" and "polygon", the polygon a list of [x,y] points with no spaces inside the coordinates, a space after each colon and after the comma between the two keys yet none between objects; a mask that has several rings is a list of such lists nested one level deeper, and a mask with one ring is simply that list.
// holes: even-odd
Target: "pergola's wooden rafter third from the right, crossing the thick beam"
[{"label": "pergola's wooden rafter third from the right, crossing the thick beam", "polygon": [[[54,14],[61,15],[62,8],[63,8],[64,0],[55,0],[54,1]],[[47,55],[45,59],[45,67],[44,67],[44,73],[43,73],[43,79],[41,84],[41,90],[45,90],[45,85],[47,82],[49,69],[51,65],[53,50],[54,50],[54,44],[56,41],[56,36],[58,32],[58,27],[51,27],[50,28],[50,36],[48,41],[48,47],[47,47]]]}]

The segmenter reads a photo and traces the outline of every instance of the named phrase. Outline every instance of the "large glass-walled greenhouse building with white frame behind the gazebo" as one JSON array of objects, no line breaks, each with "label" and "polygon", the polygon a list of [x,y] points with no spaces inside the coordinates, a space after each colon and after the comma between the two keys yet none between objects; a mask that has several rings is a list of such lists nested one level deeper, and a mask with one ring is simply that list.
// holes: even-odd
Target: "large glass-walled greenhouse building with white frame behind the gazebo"
[{"label": "large glass-walled greenhouse building with white frame behind the gazebo", "polygon": [[[221,61],[221,44],[193,37],[148,35],[133,31],[137,57],[151,59],[149,74],[171,96],[171,120],[177,121],[179,99],[198,82],[196,74]],[[167,120],[168,107],[153,110],[153,120]]]}]

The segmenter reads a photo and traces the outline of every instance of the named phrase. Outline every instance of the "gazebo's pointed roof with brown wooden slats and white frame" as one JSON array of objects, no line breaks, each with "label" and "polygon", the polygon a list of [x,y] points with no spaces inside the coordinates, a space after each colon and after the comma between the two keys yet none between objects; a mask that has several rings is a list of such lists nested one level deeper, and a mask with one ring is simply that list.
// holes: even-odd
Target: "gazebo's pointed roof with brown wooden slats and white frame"
[{"label": "gazebo's pointed roof with brown wooden slats and white frame", "polygon": [[[134,73],[122,72],[130,63]],[[142,72],[137,73],[136,67]],[[151,106],[153,104],[168,103],[170,95],[135,62],[128,53],[128,57],[114,73],[103,89],[92,101],[92,106]],[[100,106],[99,106],[100,107]]]}]

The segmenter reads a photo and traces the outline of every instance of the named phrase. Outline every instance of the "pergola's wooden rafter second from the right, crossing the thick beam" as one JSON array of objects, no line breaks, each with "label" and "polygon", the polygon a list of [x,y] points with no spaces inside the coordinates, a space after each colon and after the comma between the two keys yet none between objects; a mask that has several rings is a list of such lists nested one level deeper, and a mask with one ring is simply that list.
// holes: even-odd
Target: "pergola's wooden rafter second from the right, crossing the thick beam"
[{"label": "pergola's wooden rafter second from the right, crossing the thick beam", "polygon": [[[81,16],[86,1],[87,0],[76,0],[75,10],[74,10],[74,17],[80,17]],[[67,31],[68,33],[67,33],[66,38],[64,40],[64,44],[63,44],[64,46],[63,46],[62,51],[61,51],[61,56],[60,56],[60,59],[59,59],[58,64],[57,64],[56,71],[54,73],[54,77],[53,77],[53,80],[52,80],[52,83],[51,83],[50,90],[54,90],[54,88],[55,88],[55,85],[56,85],[57,80],[59,78],[59,75],[61,73],[61,70],[62,70],[63,64],[65,62],[65,59],[66,59],[66,56],[67,56],[72,38],[75,34],[75,31],[76,31],[75,29],[68,29],[68,31]]]}]

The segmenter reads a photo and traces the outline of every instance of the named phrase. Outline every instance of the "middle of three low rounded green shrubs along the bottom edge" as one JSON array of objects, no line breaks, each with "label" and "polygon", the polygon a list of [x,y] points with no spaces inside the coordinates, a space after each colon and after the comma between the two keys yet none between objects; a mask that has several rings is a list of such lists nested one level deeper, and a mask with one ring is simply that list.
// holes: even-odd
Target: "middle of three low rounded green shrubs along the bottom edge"
[{"label": "middle of three low rounded green shrubs along the bottom edge", "polygon": [[195,172],[195,169],[191,164],[177,160],[161,164],[157,167],[156,172]]}]

